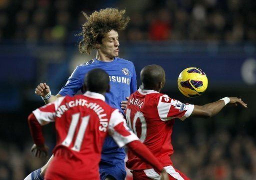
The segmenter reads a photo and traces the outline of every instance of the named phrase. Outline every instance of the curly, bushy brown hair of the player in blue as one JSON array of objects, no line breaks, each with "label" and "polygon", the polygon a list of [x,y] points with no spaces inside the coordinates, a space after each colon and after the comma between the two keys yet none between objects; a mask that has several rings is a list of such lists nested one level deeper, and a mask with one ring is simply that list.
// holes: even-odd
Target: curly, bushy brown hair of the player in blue
[{"label": "curly, bushy brown hair of the player in blue", "polygon": [[90,54],[96,43],[102,43],[102,38],[110,30],[123,30],[129,22],[129,17],[124,17],[125,9],[105,8],[94,11],[90,16],[82,12],[86,22],[82,24],[81,35],[83,38],[79,42],[80,53]]}]

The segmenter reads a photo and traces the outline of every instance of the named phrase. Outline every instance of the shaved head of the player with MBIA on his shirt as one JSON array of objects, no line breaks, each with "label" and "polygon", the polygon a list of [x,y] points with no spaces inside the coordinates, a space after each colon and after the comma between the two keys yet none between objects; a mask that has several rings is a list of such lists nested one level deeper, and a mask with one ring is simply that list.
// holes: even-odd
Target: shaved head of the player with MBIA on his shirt
[{"label": "shaved head of the player with MBIA on his shirt", "polygon": [[160,90],[165,83],[165,72],[159,65],[152,64],[140,71],[140,80],[144,89]]}]

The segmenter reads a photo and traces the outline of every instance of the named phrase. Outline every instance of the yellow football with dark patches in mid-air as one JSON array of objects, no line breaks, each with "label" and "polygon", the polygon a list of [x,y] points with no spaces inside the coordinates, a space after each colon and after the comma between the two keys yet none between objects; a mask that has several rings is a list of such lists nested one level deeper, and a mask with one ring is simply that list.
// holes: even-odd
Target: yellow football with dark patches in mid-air
[{"label": "yellow football with dark patches in mid-air", "polygon": [[200,96],[207,89],[206,74],[197,67],[184,69],[178,76],[178,89],[186,97]]}]

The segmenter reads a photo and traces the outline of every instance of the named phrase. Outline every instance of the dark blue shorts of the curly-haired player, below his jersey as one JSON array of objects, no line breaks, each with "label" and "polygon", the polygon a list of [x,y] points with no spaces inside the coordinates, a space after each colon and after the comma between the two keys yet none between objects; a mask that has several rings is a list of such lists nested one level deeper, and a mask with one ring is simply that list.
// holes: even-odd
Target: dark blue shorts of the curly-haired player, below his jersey
[{"label": "dark blue shorts of the curly-haired player, below his jersey", "polygon": [[112,176],[116,180],[124,180],[126,177],[124,161],[118,162],[115,165],[107,166],[106,164],[99,164],[100,180],[105,180],[107,176]]}]

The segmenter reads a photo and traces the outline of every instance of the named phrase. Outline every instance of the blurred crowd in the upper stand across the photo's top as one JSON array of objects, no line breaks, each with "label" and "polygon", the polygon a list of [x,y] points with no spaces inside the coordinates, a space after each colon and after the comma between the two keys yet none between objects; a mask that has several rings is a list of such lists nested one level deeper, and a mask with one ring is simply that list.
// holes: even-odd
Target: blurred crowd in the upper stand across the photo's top
[{"label": "blurred crowd in the upper stand across the photo's top", "polygon": [[126,41],[256,40],[255,0],[0,0],[0,40],[73,42],[80,12],[105,7],[126,9]]}]

